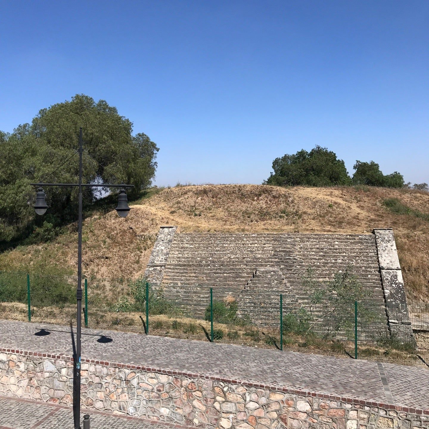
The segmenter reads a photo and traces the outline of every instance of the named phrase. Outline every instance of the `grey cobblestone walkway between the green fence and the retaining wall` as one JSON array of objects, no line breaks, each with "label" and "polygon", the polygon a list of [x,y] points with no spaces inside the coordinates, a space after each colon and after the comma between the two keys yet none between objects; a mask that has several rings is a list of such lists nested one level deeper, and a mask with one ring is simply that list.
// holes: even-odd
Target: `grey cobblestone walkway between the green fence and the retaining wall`
[{"label": "grey cobblestone walkway between the green fence and the retaining wall", "polygon": [[[66,326],[0,320],[2,347],[73,355]],[[82,359],[429,409],[429,371],[402,365],[94,329]]]}]

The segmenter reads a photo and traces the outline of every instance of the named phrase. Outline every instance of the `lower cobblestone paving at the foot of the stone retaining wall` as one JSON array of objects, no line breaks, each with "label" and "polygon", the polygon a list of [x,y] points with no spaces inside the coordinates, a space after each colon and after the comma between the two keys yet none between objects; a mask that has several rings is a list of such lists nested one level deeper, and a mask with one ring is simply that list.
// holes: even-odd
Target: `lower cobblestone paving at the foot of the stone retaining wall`
[{"label": "lower cobblestone paving at the foot of the stone retaining wall", "polygon": [[[82,410],[81,418],[86,414]],[[91,429],[172,429],[187,426],[156,423],[135,417],[90,411]],[[81,421],[81,425],[82,425]],[[60,405],[0,396],[0,429],[72,429],[73,411]]]}]

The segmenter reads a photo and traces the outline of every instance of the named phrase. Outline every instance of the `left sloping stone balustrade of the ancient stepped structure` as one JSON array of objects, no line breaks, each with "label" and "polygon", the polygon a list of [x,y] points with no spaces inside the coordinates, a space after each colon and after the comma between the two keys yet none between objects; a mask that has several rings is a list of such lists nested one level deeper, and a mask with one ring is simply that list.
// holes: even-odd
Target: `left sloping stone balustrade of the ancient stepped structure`
[{"label": "left sloping stone balustrade of the ancient stepped structure", "polygon": [[154,286],[159,286],[162,282],[176,230],[177,227],[160,227],[158,232],[157,240],[145,271],[146,280]]}]

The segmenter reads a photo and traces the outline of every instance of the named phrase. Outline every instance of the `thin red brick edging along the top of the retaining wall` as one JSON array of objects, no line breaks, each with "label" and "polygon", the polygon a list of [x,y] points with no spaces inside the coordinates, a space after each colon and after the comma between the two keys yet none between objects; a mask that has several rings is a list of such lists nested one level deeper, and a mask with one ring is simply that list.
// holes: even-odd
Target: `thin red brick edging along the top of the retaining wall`
[{"label": "thin red brick edging along the top of the retaining wall", "polygon": [[[57,360],[64,360],[64,361],[73,362],[72,356],[66,356],[63,353],[56,355],[56,354],[50,354],[50,353],[40,353],[40,352],[33,352],[33,351],[28,351],[28,350],[16,350],[16,349],[9,349],[9,348],[0,348],[0,353],[16,353],[16,354],[20,354],[22,356],[46,357],[48,359],[57,359]],[[257,387],[259,389],[275,390],[275,391],[282,392],[282,393],[292,393],[294,395],[311,396],[313,398],[328,399],[331,401],[341,401],[341,402],[345,402],[347,404],[363,405],[363,406],[367,406],[367,407],[378,407],[378,408],[384,408],[385,410],[395,410],[395,411],[404,412],[404,413],[429,415],[429,409],[423,410],[422,408],[404,407],[402,405],[385,404],[384,402],[368,401],[365,399],[345,398],[345,397],[336,396],[333,394],[308,392],[305,390],[290,389],[288,387],[269,386],[266,384],[252,383],[250,381],[244,381],[244,380],[233,380],[233,379],[228,379],[228,378],[215,377],[215,376],[211,376],[211,375],[193,374],[190,372],[172,371],[172,370],[161,369],[161,368],[151,368],[151,367],[140,366],[140,365],[131,365],[131,364],[125,364],[125,363],[118,363],[118,362],[108,362],[108,361],[94,360],[94,359],[82,359],[81,362],[82,363],[90,363],[90,364],[92,363],[94,365],[116,366],[118,368],[133,369],[133,370],[137,370],[137,371],[156,372],[158,374],[166,374],[166,375],[172,375],[172,376],[184,376],[184,377],[189,377],[189,378],[203,378],[206,380],[222,381],[223,383],[242,384],[242,385],[248,386],[248,387]]]}]

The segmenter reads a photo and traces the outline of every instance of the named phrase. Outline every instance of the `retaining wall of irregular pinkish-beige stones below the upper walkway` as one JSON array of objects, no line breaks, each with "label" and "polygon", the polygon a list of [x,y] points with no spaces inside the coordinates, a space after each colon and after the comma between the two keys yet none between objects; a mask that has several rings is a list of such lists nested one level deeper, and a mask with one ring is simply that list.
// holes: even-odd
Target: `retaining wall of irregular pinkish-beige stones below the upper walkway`
[{"label": "retaining wall of irregular pinkish-beige stones below the upper walkway", "polygon": [[[69,357],[0,350],[2,395],[70,405],[72,385]],[[94,360],[82,406],[209,429],[429,428],[429,410]]]}]

